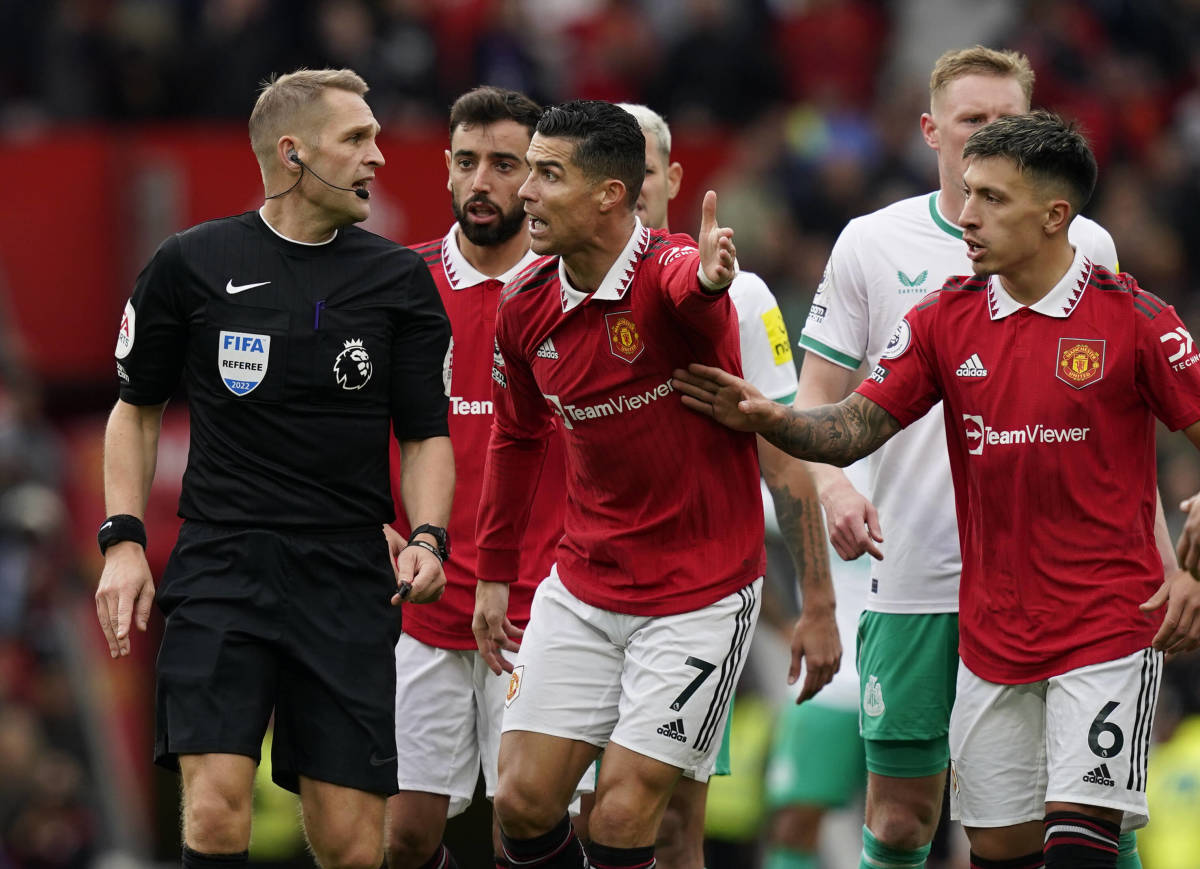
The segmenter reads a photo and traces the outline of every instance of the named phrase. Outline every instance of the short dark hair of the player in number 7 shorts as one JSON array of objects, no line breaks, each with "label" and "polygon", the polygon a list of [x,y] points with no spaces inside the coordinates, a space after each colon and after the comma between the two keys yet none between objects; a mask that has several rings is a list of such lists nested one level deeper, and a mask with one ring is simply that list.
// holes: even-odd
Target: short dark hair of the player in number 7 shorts
[{"label": "short dark hair of the player in number 7 shorts", "polygon": [[572,160],[592,180],[616,178],[625,185],[629,210],[646,180],[646,136],[634,115],[611,102],[572,100],[546,109],[538,132],[574,139]]}]

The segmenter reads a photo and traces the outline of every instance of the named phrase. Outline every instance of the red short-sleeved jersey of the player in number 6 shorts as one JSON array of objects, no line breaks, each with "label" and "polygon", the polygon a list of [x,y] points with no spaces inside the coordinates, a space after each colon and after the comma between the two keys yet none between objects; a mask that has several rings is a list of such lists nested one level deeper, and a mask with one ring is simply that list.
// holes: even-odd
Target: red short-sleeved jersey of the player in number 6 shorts
[{"label": "red short-sleeved jersey of the player in number 6 shorts", "polygon": [[1034,305],[956,277],[901,320],[858,391],[901,425],[946,402],[972,672],[1034,682],[1150,645],[1154,416],[1200,419],[1198,361],[1174,308],[1081,253]]}]

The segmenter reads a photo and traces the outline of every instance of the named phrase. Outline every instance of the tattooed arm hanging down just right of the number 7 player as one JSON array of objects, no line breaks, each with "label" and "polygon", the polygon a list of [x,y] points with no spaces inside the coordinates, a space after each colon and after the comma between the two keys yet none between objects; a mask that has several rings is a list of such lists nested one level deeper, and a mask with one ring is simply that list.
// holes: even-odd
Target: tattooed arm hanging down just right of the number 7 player
[{"label": "tattooed arm hanging down just right of the number 7 player", "polygon": [[800,616],[792,629],[787,683],[804,667],[802,703],[829,683],[841,666],[841,640],[821,505],[808,467],[758,437],[758,466],[775,504],[775,519],[800,583]]}]

